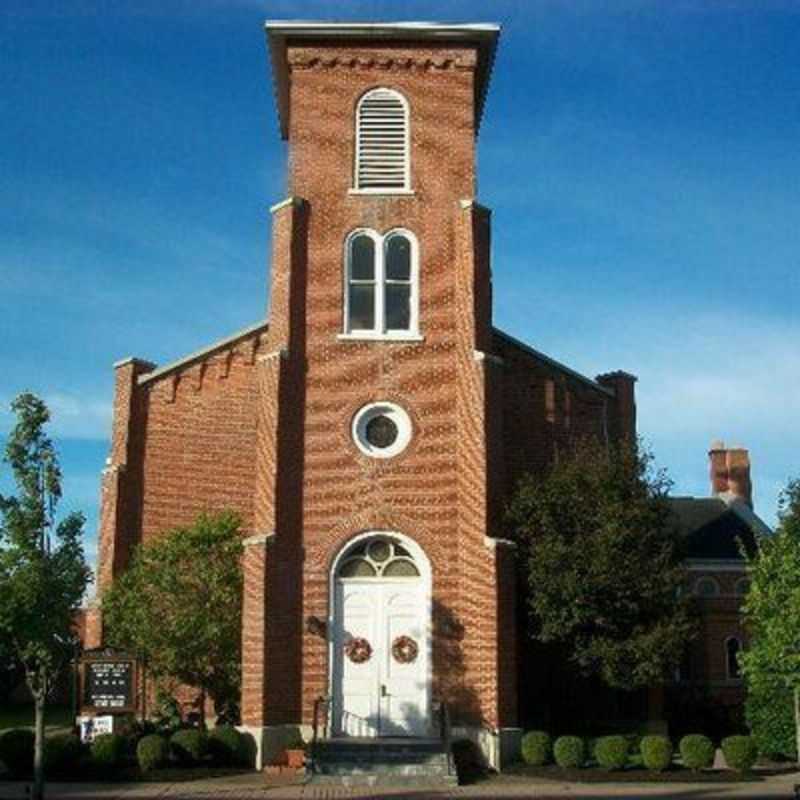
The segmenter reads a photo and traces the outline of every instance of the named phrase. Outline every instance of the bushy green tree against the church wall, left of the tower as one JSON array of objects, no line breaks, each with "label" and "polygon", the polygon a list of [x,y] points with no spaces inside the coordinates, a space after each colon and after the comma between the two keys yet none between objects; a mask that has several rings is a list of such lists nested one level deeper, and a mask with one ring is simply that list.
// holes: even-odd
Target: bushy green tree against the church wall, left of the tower
[{"label": "bushy green tree against the church wall, left of the tower", "polygon": [[108,641],[153,677],[197,688],[201,709],[206,696],[217,709],[238,696],[241,556],[238,516],[204,514],[137,548],[103,595]]}]

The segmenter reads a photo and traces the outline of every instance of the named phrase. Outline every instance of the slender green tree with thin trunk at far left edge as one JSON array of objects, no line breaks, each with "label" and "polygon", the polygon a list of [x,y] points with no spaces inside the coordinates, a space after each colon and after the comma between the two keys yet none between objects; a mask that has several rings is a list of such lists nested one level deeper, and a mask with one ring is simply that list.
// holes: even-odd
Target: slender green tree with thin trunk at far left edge
[{"label": "slender green tree with thin trunk at far left edge", "polygon": [[50,412],[33,394],[11,404],[17,421],[4,461],[16,496],[0,497],[0,629],[25,670],[36,708],[34,798],[44,792],[45,703],[58,672],[74,652],[73,618],[91,570],[83,554],[84,518],[55,523],[61,470],[45,433]]}]

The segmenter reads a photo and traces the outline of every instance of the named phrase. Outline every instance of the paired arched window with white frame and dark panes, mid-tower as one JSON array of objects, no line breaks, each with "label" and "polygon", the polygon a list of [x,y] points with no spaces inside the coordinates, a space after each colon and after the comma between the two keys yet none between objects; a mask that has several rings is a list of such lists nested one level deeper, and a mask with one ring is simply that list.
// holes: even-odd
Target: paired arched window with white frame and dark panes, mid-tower
[{"label": "paired arched window with white frame and dark panes, mid-tower", "polygon": [[[364,239],[361,239],[364,237]],[[372,243],[372,269],[365,268],[365,253]],[[392,256],[407,243],[407,272],[398,270]],[[399,339],[419,341],[419,242],[405,228],[381,235],[357,228],[344,248],[345,339]],[[369,298],[369,300],[367,299]],[[406,305],[407,303],[407,305]]]}]

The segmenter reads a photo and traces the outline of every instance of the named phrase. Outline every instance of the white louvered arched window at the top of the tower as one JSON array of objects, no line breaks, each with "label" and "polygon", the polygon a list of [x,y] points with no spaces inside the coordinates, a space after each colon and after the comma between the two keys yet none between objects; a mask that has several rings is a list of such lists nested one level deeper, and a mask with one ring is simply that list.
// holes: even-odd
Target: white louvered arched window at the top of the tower
[{"label": "white louvered arched window at the top of the tower", "polygon": [[356,109],[355,187],[376,194],[410,185],[408,103],[393,89],[372,89]]}]

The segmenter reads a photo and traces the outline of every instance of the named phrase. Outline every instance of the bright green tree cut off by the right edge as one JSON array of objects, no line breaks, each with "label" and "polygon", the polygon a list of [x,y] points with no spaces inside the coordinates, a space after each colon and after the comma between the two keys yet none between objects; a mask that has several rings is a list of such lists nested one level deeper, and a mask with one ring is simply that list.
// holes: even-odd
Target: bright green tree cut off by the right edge
[{"label": "bright green tree cut off by the right edge", "polygon": [[789,690],[800,757],[800,479],[781,493],[778,529],[759,538],[748,572],[743,611],[751,640],[742,671],[751,693]]}]

